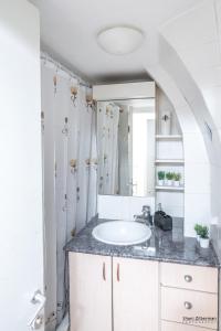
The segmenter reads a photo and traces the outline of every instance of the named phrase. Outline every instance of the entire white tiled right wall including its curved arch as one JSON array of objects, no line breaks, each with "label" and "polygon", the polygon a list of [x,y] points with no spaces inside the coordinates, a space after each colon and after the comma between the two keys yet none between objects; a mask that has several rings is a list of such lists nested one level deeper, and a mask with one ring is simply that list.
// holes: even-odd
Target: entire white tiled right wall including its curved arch
[{"label": "entire white tiled right wall including its curved arch", "polygon": [[146,62],[171,100],[183,132],[186,234],[191,235],[196,222],[221,218],[220,26],[221,0],[202,1],[160,26],[159,56]]}]

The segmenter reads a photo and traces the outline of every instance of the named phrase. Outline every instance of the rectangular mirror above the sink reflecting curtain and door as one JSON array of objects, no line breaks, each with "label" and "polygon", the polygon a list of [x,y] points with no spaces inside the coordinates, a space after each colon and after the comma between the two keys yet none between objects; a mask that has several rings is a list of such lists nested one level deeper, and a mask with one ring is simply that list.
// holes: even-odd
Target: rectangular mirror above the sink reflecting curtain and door
[{"label": "rectangular mirror above the sink reflecting curtain and door", "polygon": [[97,103],[99,194],[155,194],[155,98]]}]

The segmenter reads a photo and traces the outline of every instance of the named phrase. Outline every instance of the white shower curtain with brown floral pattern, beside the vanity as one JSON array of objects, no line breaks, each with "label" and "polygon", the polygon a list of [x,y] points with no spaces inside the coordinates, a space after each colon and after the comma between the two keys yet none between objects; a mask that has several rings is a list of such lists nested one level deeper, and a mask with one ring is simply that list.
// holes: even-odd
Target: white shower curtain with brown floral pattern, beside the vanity
[{"label": "white shower curtain with brown floral pattern, beside the vanity", "polygon": [[[84,84],[85,85],[85,84]],[[90,87],[42,55],[46,330],[66,311],[64,245],[96,214],[96,113]],[[56,295],[55,295],[56,293]]]}]

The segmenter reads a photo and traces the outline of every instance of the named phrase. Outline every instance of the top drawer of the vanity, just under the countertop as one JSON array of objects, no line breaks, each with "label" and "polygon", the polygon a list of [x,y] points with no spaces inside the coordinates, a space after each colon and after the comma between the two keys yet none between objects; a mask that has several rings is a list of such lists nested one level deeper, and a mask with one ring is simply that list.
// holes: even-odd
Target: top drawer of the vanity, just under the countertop
[{"label": "top drawer of the vanity, just under the countertop", "polygon": [[164,286],[218,292],[217,268],[161,263],[160,273]]}]

